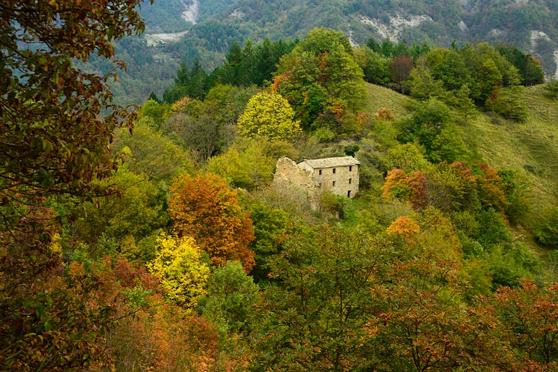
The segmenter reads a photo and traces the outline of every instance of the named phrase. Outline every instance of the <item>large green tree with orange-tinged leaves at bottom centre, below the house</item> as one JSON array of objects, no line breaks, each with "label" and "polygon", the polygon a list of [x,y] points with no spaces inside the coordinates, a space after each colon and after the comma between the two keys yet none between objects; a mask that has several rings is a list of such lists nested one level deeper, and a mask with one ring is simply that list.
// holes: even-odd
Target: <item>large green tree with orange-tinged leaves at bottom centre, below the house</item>
[{"label": "large green tree with orange-tinged leaves at bottom centre, below the house", "polygon": [[[363,330],[386,249],[328,226],[299,233],[271,264],[252,371],[342,371],[369,366]],[[370,360],[372,359],[372,360]]]}]

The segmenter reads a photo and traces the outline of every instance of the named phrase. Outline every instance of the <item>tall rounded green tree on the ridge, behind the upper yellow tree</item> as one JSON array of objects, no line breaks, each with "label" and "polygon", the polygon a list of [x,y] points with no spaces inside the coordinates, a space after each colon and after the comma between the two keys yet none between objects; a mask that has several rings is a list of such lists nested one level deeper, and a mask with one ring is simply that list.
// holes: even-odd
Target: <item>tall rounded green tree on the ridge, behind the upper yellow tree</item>
[{"label": "tall rounded green tree on the ridge, behind the upper yellow tree", "polygon": [[[285,97],[308,129],[319,126],[342,132],[347,111],[360,109],[366,92],[363,72],[342,33],[314,29],[282,57],[271,86]],[[349,128],[345,128],[349,129]]]}]

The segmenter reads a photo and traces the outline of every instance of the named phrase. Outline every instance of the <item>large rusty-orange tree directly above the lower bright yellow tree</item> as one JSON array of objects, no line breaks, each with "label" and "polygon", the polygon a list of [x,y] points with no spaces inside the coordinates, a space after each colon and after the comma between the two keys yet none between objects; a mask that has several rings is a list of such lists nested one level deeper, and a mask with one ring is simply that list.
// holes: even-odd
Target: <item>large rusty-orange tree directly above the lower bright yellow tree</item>
[{"label": "large rusty-orange tree directly above the lower bright yellow tree", "polygon": [[255,264],[248,245],[254,240],[252,220],[239,206],[238,194],[213,173],[195,178],[185,174],[170,187],[169,212],[173,230],[192,236],[213,265],[241,261],[250,272]]}]

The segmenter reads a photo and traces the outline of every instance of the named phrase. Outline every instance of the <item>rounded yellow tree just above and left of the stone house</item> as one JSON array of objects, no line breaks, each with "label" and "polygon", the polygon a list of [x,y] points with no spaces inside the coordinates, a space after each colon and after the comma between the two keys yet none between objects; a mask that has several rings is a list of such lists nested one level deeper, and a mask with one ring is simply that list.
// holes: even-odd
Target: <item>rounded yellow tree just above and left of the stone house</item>
[{"label": "rounded yellow tree just above and left of the stone house", "polygon": [[270,139],[288,141],[301,132],[300,122],[293,119],[294,111],[282,95],[261,92],[250,98],[238,125],[245,137],[253,138],[261,134]]}]

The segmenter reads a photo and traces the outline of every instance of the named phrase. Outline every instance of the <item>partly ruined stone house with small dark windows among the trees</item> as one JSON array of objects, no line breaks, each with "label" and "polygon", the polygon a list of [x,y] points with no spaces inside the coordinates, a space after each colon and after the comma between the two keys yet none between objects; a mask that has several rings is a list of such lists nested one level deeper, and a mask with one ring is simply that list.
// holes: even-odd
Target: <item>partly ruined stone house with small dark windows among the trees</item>
[{"label": "partly ruined stone house with small dark windows among the trees", "polygon": [[328,190],[336,195],[354,197],[359,192],[359,164],[352,156],[303,160],[296,164],[288,157],[277,161],[273,184],[305,192],[312,206]]}]

